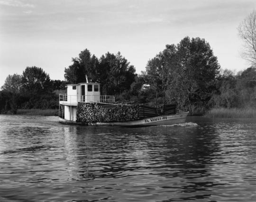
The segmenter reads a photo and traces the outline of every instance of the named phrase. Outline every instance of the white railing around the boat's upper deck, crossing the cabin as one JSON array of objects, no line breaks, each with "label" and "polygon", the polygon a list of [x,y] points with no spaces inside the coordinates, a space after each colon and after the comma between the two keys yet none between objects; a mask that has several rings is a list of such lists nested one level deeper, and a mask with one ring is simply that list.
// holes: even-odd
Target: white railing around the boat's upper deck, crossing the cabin
[{"label": "white railing around the boat's upper deck, crossing the cabin", "polygon": [[88,95],[88,96],[69,96],[67,94],[60,94],[59,95],[59,102],[60,104],[77,104],[78,102],[96,102],[96,103],[114,103],[115,97],[114,96],[95,96],[95,95]]}]

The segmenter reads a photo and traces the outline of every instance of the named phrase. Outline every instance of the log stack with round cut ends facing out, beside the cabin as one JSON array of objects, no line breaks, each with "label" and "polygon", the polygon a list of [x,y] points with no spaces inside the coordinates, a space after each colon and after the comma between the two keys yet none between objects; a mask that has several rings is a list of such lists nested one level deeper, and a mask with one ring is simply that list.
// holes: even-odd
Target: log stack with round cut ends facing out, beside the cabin
[{"label": "log stack with round cut ends facing out, beside the cabin", "polygon": [[78,103],[76,121],[81,123],[124,122],[139,119],[138,105]]}]

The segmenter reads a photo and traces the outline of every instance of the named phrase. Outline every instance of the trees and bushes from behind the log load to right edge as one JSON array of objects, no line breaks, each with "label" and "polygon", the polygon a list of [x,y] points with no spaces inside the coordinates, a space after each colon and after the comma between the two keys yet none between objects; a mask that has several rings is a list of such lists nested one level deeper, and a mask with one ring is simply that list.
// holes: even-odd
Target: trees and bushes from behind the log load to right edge
[{"label": "trees and bushes from behind the log load to right edge", "polygon": [[209,43],[185,37],[177,45],[166,45],[148,61],[129,95],[138,103],[176,103],[191,114],[203,114],[213,107],[256,107],[256,68],[237,75],[219,70]]}]

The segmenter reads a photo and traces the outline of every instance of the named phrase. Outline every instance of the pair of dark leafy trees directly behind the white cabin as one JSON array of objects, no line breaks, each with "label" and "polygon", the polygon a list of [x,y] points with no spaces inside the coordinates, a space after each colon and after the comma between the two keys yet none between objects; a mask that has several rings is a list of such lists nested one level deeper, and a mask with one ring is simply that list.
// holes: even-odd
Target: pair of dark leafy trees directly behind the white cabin
[{"label": "pair of dark leafy trees directly behind the white cabin", "polygon": [[116,55],[108,52],[98,59],[85,49],[72,61],[73,64],[64,70],[67,82],[86,82],[87,75],[89,82],[101,83],[102,94],[117,95],[129,90],[136,77],[134,66],[130,65],[120,52]]}]

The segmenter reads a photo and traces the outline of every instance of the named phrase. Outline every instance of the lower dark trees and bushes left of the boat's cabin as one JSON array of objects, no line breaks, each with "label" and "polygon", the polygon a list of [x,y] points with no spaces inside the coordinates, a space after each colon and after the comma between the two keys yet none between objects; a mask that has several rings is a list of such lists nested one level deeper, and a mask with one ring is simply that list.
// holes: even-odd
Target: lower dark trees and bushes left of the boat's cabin
[{"label": "lower dark trees and bushes left of the boat's cabin", "polygon": [[16,114],[18,108],[57,108],[55,90],[63,90],[65,83],[51,80],[42,68],[35,66],[27,67],[22,75],[9,75],[0,91],[0,112]]}]

